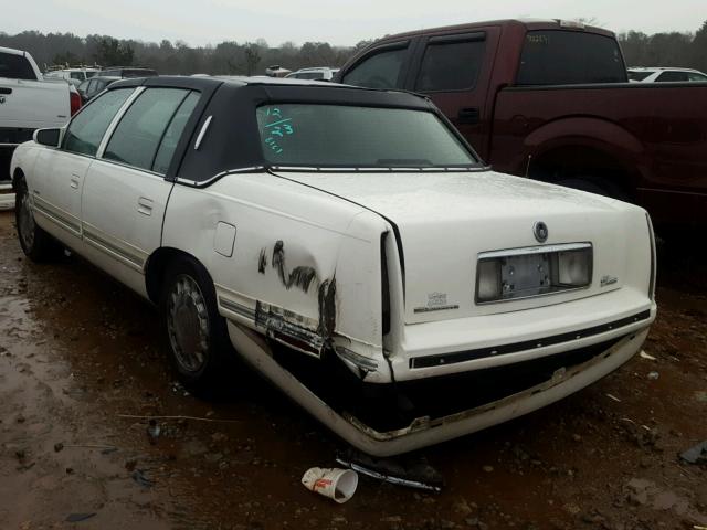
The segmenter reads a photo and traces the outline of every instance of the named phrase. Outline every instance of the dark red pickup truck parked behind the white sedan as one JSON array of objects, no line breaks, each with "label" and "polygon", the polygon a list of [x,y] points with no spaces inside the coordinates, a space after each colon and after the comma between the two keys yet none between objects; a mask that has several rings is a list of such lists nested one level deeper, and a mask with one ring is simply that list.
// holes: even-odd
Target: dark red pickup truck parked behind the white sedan
[{"label": "dark red pickup truck parked behind the white sedan", "polygon": [[504,20],[386,36],[335,81],[428,95],[499,171],[707,225],[707,83],[629,83],[609,31]]}]

